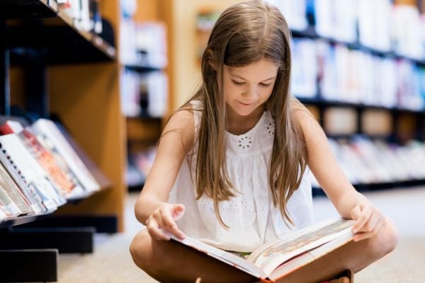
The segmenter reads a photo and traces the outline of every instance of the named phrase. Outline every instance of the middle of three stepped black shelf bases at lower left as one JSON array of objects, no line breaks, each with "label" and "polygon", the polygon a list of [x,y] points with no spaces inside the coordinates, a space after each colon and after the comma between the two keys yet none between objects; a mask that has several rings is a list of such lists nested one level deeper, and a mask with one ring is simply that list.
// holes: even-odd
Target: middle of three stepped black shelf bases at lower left
[{"label": "middle of three stepped black shelf bases at lower left", "polygon": [[0,233],[0,250],[54,248],[59,253],[93,253],[94,233],[93,227],[13,228]]}]

